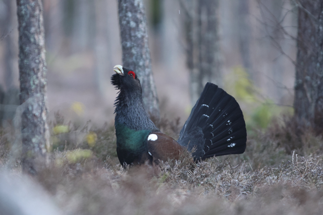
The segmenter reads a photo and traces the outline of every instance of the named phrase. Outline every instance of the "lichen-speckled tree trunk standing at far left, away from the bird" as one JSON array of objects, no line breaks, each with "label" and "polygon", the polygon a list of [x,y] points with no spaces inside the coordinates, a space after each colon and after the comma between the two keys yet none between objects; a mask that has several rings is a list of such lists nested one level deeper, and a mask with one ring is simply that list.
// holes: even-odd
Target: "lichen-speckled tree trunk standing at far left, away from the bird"
[{"label": "lichen-speckled tree trunk standing at far left, away from the bird", "polygon": [[17,0],[22,168],[35,174],[50,148],[41,0]]}]

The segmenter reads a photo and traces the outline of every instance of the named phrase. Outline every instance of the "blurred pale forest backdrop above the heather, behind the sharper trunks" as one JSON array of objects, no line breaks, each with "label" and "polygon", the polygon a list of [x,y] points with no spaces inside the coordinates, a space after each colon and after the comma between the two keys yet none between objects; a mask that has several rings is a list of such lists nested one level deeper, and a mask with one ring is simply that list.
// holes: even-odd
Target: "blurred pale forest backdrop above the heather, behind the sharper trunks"
[{"label": "blurred pale forest backdrop above the heather, behind the sharper trunks", "polygon": [[[110,77],[113,66],[123,64],[117,1],[42,2],[49,116],[52,118],[60,110],[66,120],[78,123],[88,119],[98,124],[112,122],[116,91]],[[144,0],[143,4],[161,116],[186,119],[198,89],[206,81],[239,95],[250,124],[270,121],[268,116],[277,115],[282,107],[290,111],[294,100],[299,6],[294,1]],[[8,94],[8,85],[18,88],[15,13],[13,1],[0,0],[3,96]],[[130,31],[125,28],[126,33]],[[199,76],[204,78],[197,79]],[[6,77],[13,77],[12,84]],[[76,111],[75,104],[82,104],[77,105],[82,110]],[[264,104],[270,108],[263,108]],[[8,105],[3,104],[2,110]],[[17,104],[10,106],[13,107]],[[2,124],[10,125],[13,117],[3,118]],[[260,124],[262,127],[267,123]]]}]

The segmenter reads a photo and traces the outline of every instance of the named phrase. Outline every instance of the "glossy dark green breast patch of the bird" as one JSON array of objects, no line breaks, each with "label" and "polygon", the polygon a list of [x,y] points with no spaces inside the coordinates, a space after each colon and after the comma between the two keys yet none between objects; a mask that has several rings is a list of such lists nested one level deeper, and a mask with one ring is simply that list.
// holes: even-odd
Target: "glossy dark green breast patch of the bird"
[{"label": "glossy dark green breast patch of the bird", "polygon": [[127,127],[125,124],[115,124],[117,146],[121,149],[136,152],[145,148],[145,140],[147,139],[150,130],[134,130]]}]

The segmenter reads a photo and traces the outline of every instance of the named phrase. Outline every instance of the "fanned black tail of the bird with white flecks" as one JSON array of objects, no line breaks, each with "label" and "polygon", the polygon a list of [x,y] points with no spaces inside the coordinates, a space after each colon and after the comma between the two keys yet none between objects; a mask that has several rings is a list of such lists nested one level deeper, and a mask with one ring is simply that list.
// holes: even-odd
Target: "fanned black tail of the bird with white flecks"
[{"label": "fanned black tail of the bird with white flecks", "polygon": [[238,102],[217,85],[207,83],[184,124],[179,144],[193,148],[197,160],[241,154],[247,140],[246,124]]}]

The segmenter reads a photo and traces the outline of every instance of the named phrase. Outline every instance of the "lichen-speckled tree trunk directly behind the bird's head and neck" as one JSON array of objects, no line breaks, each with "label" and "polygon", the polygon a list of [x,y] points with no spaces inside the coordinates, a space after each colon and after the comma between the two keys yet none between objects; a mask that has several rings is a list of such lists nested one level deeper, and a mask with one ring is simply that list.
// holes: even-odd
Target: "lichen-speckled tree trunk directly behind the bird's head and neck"
[{"label": "lichen-speckled tree trunk directly behind the bird's head and neck", "polygon": [[151,117],[159,119],[143,0],[118,0],[118,8],[123,66],[136,71],[141,82],[145,110]]}]

